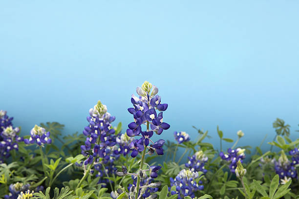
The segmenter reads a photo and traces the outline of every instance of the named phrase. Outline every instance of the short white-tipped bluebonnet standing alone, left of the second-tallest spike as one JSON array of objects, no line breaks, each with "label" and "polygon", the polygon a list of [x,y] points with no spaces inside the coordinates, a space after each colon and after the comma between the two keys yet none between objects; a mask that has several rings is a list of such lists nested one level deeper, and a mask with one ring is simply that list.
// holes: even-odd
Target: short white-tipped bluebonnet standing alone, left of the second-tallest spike
[{"label": "short white-tipped bluebonnet standing alone, left of the second-tallest spike", "polygon": [[46,132],[43,127],[35,125],[30,131],[31,137],[29,139],[24,139],[25,144],[37,143],[42,146],[43,144],[50,144],[52,140],[50,139],[50,132]]}]

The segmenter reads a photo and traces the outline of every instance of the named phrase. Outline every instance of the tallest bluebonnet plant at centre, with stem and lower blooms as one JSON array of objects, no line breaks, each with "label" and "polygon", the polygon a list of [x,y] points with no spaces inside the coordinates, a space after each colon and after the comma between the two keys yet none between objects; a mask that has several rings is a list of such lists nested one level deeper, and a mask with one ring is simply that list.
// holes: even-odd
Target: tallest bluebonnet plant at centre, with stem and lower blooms
[{"label": "tallest bluebonnet plant at centre, with stem and lower blooms", "polygon": [[[156,192],[157,187],[151,187],[149,185],[153,178],[158,177],[158,171],[161,166],[149,166],[145,162],[145,155],[152,155],[154,153],[163,155],[163,144],[165,140],[159,139],[158,141],[152,141],[153,132],[160,135],[163,130],[170,128],[170,125],[163,122],[163,111],[168,107],[168,104],[161,104],[161,97],[156,95],[158,88],[148,81],[145,81],[141,87],[136,88],[136,92],[139,98],[132,95],[131,103],[133,107],[128,108],[128,112],[133,115],[134,121],[128,124],[127,136],[133,138],[140,136],[140,139],[131,140],[129,147],[131,149],[131,157],[136,158],[138,154],[142,153],[140,167],[134,176],[134,183],[128,187],[129,196],[134,196],[135,199],[142,196],[147,198],[150,193]],[[158,113],[157,113],[158,112]],[[146,126],[146,130],[142,129],[142,125]],[[148,149],[148,153],[146,153]],[[119,149],[121,151],[122,149]],[[117,152],[116,152],[117,153]],[[144,179],[142,173],[143,165],[149,166],[150,176],[148,179]],[[122,172],[118,172],[119,175],[123,175]],[[142,174],[142,175],[141,175]],[[137,176],[137,178],[136,178]],[[152,198],[155,198],[153,195]]]}]

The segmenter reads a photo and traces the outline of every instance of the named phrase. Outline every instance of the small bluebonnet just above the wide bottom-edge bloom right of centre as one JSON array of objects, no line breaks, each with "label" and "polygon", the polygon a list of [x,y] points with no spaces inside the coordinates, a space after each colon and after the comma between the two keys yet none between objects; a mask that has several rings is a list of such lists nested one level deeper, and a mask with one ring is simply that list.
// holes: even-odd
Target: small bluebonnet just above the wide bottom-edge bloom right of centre
[{"label": "small bluebonnet just above the wide bottom-edge bloom right of centre", "polygon": [[208,161],[208,157],[203,153],[203,151],[197,151],[192,157],[188,157],[189,161],[185,166],[192,171],[201,171],[204,174],[207,173],[205,169],[205,162]]}]

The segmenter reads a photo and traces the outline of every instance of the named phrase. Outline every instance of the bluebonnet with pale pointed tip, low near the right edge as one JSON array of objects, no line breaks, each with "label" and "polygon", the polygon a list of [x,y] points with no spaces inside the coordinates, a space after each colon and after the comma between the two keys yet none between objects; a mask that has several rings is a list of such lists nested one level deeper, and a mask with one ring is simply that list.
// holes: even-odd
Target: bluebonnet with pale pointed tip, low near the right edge
[{"label": "bluebonnet with pale pointed tip, low near the right edge", "polygon": [[274,169],[279,175],[279,179],[297,178],[296,168],[287,158],[283,150],[278,160],[275,161]]}]

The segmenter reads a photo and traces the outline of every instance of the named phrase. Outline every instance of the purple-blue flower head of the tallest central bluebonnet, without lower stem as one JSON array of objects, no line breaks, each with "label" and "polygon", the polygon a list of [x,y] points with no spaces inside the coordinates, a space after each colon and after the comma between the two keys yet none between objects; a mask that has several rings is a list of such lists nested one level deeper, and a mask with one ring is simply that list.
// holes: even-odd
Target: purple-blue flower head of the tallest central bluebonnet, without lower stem
[{"label": "purple-blue flower head of the tallest central bluebonnet, without lower stem", "polygon": [[[161,97],[156,95],[158,88],[152,86],[149,82],[142,84],[142,87],[137,87],[136,92],[139,97],[132,95],[131,103],[133,108],[128,108],[128,112],[133,115],[134,121],[128,124],[127,135],[128,137],[135,137],[142,135],[142,139],[133,141],[130,144],[130,148],[133,149],[131,152],[132,157],[136,157],[139,152],[144,150],[144,147],[149,145],[149,142],[153,141],[150,139],[153,132],[160,135],[163,130],[170,128],[168,123],[163,122],[163,112],[168,107],[168,104],[161,103]],[[156,111],[159,111],[157,114]],[[142,124],[150,124],[149,131],[142,131]],[[138,143],[137,143],[138,142]],[[163,155],[163,146],[160,143],[153,144],[157,148],[157,154]],[[152,145],[150,145],[152,146]],[[153,150],[153,148],[149,150]]]}]

